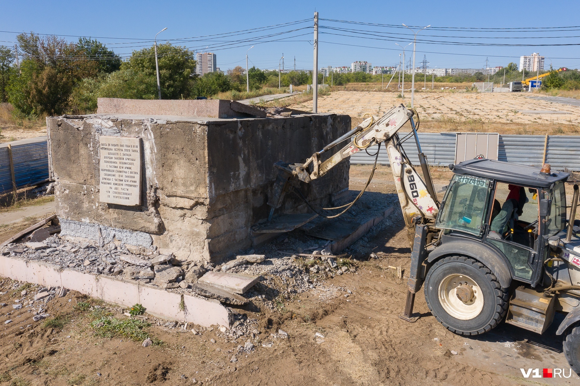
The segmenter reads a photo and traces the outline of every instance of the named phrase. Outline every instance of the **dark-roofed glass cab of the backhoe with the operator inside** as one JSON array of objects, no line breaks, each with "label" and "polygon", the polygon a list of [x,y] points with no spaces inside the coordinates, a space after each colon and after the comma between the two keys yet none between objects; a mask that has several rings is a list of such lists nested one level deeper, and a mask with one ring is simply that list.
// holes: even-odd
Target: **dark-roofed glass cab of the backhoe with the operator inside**
[{"label": "dark-roofed glass cab of the backhoe with the operator inside", "polygon": [[442,244],[458,238],[484,243],[513,279],[538,284],[548,238],[565,227],[569,174],[490,159],[450,168],[455,174],[436,220]]}]

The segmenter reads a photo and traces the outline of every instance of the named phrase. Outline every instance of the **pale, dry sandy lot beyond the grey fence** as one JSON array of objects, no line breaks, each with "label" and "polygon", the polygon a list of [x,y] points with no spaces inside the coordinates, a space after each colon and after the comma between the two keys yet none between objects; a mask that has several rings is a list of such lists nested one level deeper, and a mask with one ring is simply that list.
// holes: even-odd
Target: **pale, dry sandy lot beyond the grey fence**
[{"label": "pale, dry sandy lot beyond the grey fence", "polygon": [[[415,107],[429,132],[479,131],[517,134],[576,134],[580,107],[532,99],[528,93],[416,92]],[[411,104],[411,94],[334,91],[318,98],[318,111],[348,114],[358,124],[364,114],[382,115],[391,107]],[[312,111],[312,101],[291,107]],[[520,132],[517,132],[520,130]]]}]

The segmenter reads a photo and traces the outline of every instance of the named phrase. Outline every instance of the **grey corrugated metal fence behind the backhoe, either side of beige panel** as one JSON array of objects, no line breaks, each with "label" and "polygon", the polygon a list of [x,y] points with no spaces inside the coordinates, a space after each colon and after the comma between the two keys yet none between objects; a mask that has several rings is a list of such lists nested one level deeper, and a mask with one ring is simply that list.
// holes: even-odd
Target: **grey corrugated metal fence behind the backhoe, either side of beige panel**
[{"label": "grey corrugated metal fence behind the backhoe, either side of beige panel", "polygon": [[[400,133],[403,138],[406,133]],[[456,133],[419,133],[419,143],[430,165],[448,165],[455,162]],[[523,165],[541,166],[546,136],[528,136],[518,134],[500,134],[498,160],[521,163]],[[417,147],[413,138],[405,141],[403,148],[414,165],[418,165]],[[368,149],[374,154],[376,145]],[[373,163],[374,156],[364,151],[350,157],[351,163]],[[546,162],[552,167],[580,170],[580,136],[548,136]],[[378,163],[389,165],[389,158],[383,146]]]}]

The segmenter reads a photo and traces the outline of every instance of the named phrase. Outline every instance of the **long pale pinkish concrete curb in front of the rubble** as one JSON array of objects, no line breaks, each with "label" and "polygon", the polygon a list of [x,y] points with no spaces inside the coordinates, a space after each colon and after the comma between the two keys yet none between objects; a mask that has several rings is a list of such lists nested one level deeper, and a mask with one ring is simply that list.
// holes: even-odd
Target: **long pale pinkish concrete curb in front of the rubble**
[{"label": "long pale pinkish concrete curb in front of the rubble", "polygon": [[148,314],[170,321],[184,321],[206,327],[231,325],[231,312],[218,300],[173,293],[111,276],[60,270],[53,264],[9,256],[0,256],[0,275],[44,286],[65,287],[123,307],[139,303],[147,308]]}]

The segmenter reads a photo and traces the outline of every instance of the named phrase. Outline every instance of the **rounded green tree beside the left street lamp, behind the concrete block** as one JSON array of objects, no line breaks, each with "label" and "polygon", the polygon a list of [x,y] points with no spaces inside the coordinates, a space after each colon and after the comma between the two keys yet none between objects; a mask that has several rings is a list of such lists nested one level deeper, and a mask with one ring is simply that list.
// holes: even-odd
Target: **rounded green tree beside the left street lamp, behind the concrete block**
[{"label": "rounded green tree beside the left street lamp, behind the concrete block", "polygon": [[[170,43],[157,46],[161,96],[164,99],[181,99],[190,96],[195,78],[193,52]],[[133,51],[126,63],[135,73],[141,72],[148,77],[155,74],[155,50],[153,47]]]}]

